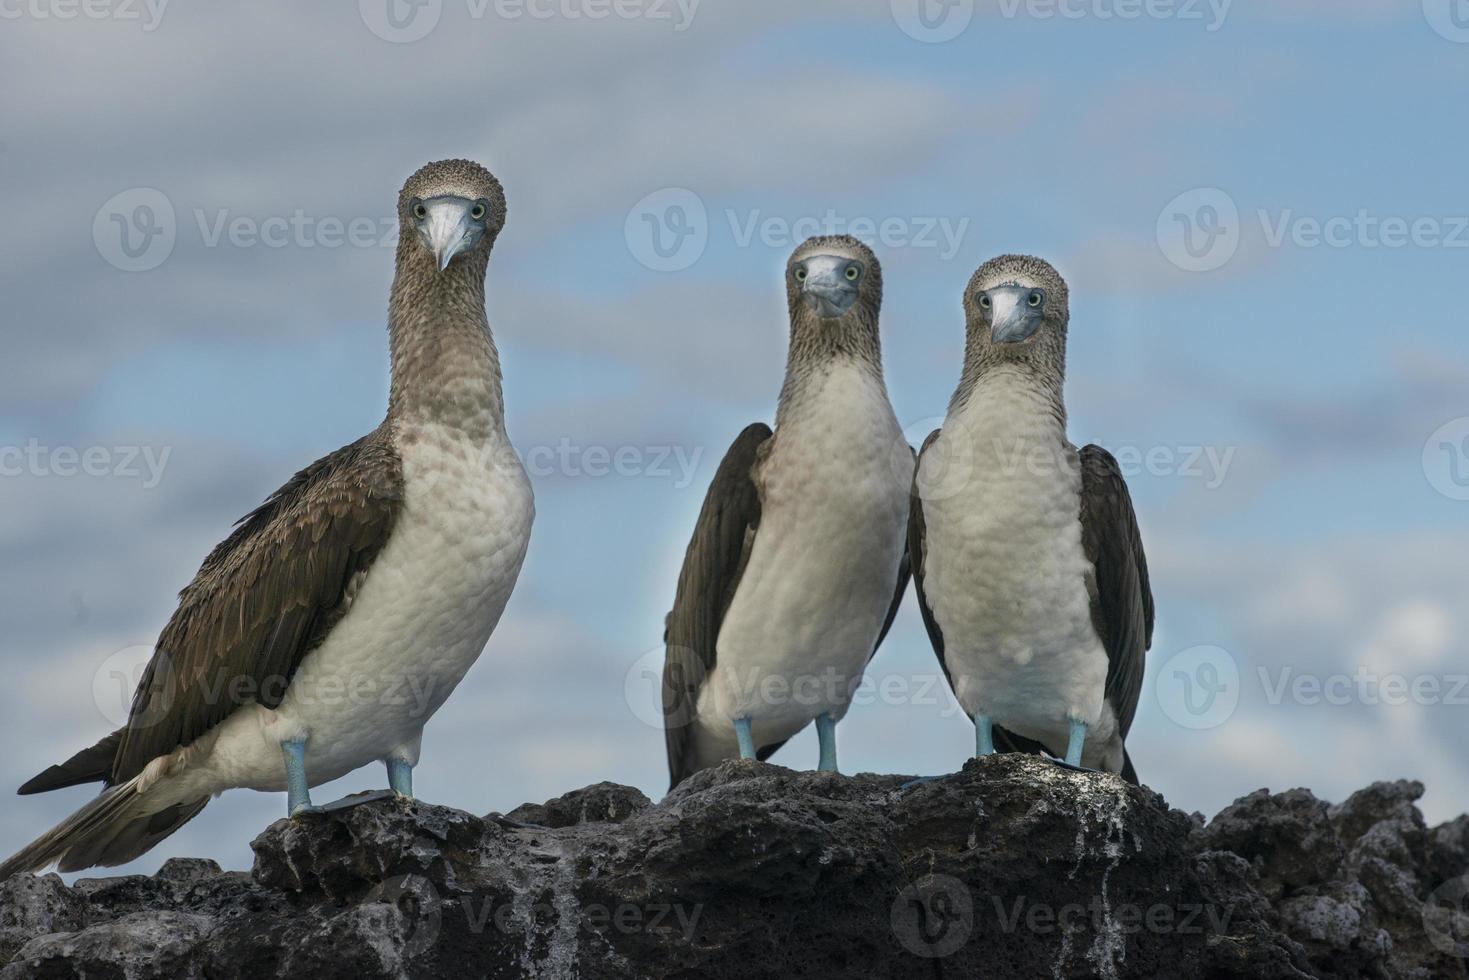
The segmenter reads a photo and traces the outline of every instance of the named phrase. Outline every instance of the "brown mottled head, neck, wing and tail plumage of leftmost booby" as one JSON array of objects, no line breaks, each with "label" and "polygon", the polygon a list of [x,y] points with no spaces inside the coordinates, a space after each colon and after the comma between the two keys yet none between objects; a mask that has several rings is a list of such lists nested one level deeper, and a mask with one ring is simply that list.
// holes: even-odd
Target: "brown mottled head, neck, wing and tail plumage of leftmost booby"
[{"label": "brown mottled head, neck, wing and tail plumage of leftmost booby", "polygon": [[[439,272],[411,203],[450,192],[472,192],[489,213],[486,232]],[[403,508],[400,426],[436,423],[473,444],[502,435],[499,360],[485,320],[485,267],[505,217],[499,182],[469,160],[430,163],[404,184],[398,213],[386,419],[291,478],[210,552],[159,638],[128,724],[21,789],[100,782],[103,795],[0,865],[0,880],[48,864],[123,864],[198,814],[207,796],[156,811],[144,793],[207,754],[239,708],[278,707],[351,608]]]}]

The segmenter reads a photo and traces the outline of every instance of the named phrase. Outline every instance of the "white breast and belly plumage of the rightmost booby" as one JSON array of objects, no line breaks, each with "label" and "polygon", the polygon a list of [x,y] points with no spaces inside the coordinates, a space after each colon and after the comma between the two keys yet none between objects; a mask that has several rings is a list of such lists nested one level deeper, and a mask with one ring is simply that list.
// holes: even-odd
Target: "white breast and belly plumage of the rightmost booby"
[{"label": "white breast and belly plumage of the rightmost booby", "polygon": [[943,632],[967,713],[1066,746],[1091,726],[1086,758],[1106,751],[1108,658],[1091,623],[1081,547],[1080,470],[1042,395],[1000,375],[945,422],[920,472],[927,526],[924,595]]}]

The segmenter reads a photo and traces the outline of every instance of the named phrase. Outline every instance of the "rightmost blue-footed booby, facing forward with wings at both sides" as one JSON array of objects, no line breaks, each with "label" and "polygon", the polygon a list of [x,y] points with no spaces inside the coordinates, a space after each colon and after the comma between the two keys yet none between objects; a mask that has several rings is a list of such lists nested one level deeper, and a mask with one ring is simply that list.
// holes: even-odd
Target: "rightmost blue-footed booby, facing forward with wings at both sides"
[{"label": "rightmost blue-footed booby, facing forward with wings at both sides", "polygon": [[1066,441],[1066,284],[1002,256],[964,292],[964,373],[909,516],[920,610],[975,754],[1044,749],[1137,782],[1124,739],[1153,595],[1116,460]]}]

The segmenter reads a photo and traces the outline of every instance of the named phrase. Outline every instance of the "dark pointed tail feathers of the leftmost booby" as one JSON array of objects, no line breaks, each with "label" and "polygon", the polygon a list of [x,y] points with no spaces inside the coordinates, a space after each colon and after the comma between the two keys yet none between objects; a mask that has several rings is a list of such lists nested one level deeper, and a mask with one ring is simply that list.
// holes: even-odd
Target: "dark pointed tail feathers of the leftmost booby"
[{"label": "dark pointed tail feathers of the leftmost booby", "polygon": [[128,780],[103,790],[101,796],[0,864],[0,882],[53,864],[62,871],[126,864],[198,815],[207,802],[206,796],[153,810],[153,801],[138,792],[138,780]]}]

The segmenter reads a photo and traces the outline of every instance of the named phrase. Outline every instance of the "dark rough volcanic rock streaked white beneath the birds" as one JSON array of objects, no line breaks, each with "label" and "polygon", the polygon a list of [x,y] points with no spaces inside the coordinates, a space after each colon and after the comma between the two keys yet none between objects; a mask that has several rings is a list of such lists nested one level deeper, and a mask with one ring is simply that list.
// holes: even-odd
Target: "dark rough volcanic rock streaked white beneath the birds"
[{"label": "dark rough volcanic rock streaked white beneath the birds", "polygon": [[0,980],[1469,979],[1469,818],[1425,827],[1418,783],[1205,824],[1018,755],[903,782],[729,763],[658,805],[282,820],[251,874],[21,876]]}]

